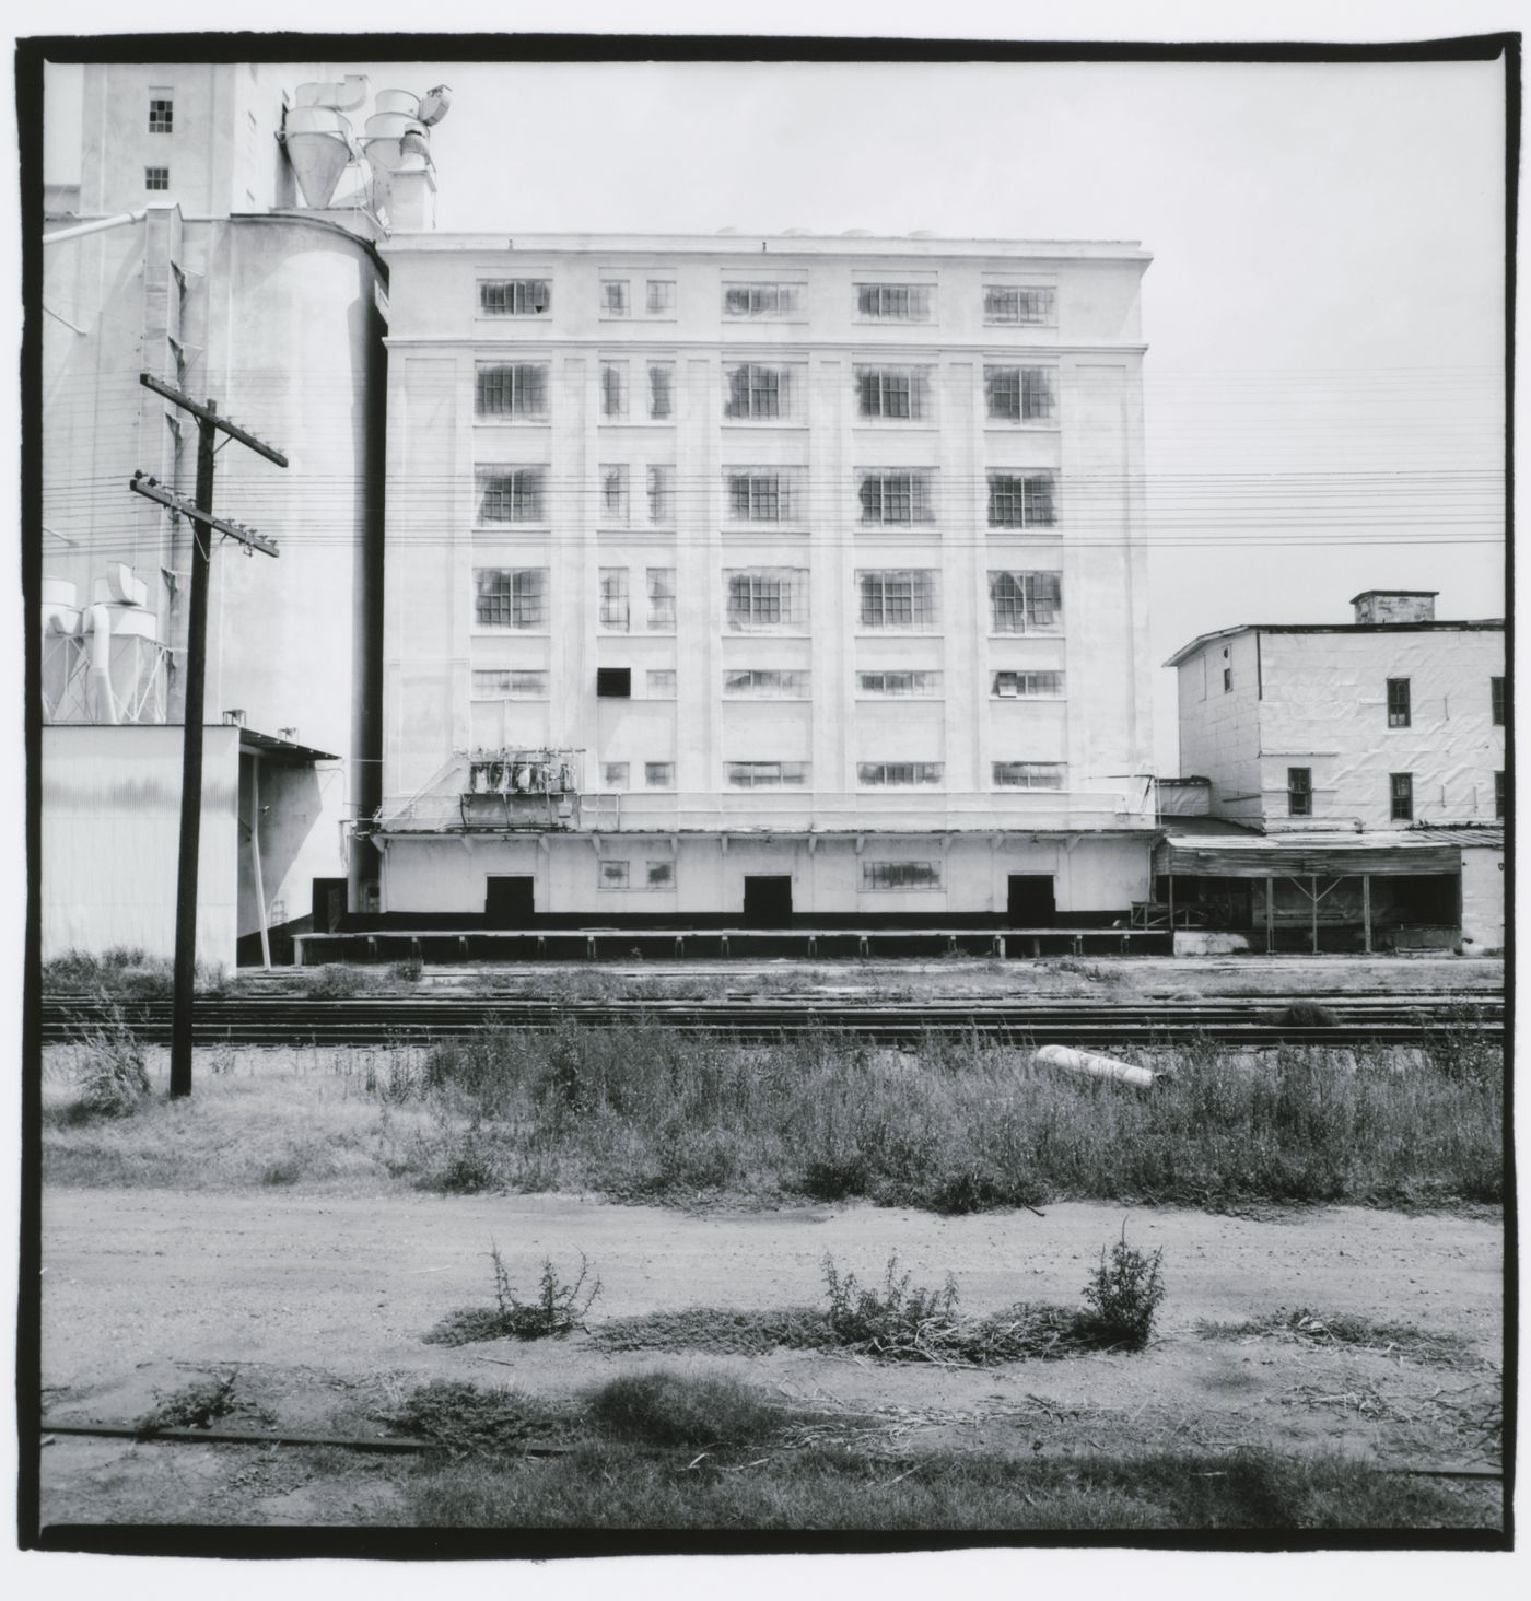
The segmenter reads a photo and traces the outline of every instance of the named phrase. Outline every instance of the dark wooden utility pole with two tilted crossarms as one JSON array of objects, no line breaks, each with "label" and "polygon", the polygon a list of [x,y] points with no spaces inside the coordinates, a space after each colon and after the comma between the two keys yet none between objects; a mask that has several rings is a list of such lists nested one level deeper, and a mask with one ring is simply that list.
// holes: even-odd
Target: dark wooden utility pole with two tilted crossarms
[{"label": "dark wooden utility pole with two tilted crossarms", "polygon": [[[253,528],[226,522],[213,516],[213,458],[219,434],[237,439],[256,455],[287,466],[287,456],[253,434],[218,415],[216,400],[192,400],[171,384],[149,373],[139,373],[138,381],[157,395],[171,400],[197,419],[197,500],[187,504],[184,496],[167,490],[154,479],[135,472],[128,488],[135,495],[168,506],[191,522],[192,572],[186,628],[186,712],[181,752],[181,853],[176,873],[176,964],[175,1007],[170,1034],[170,1093],[191,1095],[191,1047],[192,1047],[192,994],[197,983],[197,847],[202,837],[202,703],[207,680],[207,591],[213,556],[213,533],[239,540],[247,549],[277,556],[272,540],[263,540]],[[256,820],[259,823],[259,820]]]}]

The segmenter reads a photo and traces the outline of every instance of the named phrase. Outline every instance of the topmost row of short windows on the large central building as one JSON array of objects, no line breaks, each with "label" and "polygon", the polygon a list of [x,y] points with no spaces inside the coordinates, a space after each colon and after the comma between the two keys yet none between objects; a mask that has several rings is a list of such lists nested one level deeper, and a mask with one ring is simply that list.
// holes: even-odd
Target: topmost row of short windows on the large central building
[{"label": "topmost row of short windows on the large central building", "polygon": [[[168,106],[168,102],[165,102]],[[167,110],[168,115],[168,110]],[[154,126],[151,112],[151,128]],[[168,123],[163,130],[170,131]],[[650,317],[673,317],[674,279],[642,279],[642,306]],[[601,279],[601,315],[629,317],[637,301],[633,279]],[[852,303],[862,322],[932,322],[935,288],[930,283],[854,283]],[[801,282],[730,282],[722,285],[727,319],[774,320],[802,315],[807,285]],[[484,317],[546,317],[553,309],[548,279],[480,279],[479,314]],[[1057,291],[1038,285],[983,285],[983,320],[1051,328],[1057,322]]]}]

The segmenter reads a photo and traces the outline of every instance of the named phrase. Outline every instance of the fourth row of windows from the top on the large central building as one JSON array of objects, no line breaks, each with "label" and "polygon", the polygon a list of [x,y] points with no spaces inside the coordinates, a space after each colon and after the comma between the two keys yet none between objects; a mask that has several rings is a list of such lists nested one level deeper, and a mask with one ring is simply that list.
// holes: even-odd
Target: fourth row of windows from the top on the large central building
[{"label": "fourth row of windows from the top on the large central building", "polygon": [[[647,568],[649,628],[673,628],[676,570]],[[725,624],[732,631],[807,628],[807,572],[801,567],[737,568],[724,573]],[[863,628],[934,631],[938,624],[938,573],[930,567],[858,572],[858,620]],[[628,568],[601,568],[601,621],[626,629]],[[1063,626],[1059,573],[990,572],[990,631],[1055,634]],[[546,567],[476,567],[474,620],[479,628],[546,628]]]}]

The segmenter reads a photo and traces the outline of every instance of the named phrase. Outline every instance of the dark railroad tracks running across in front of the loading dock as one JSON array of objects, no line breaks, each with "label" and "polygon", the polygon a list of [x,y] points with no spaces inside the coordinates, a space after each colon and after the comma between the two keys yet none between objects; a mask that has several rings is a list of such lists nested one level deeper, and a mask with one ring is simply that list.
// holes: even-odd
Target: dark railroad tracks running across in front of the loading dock
[{"label": "dark railroad tracks running across in front of the loading dock", "polygon": [[[1320,1002],[1332,1025],[1280,1021],[1299,1001]],[[151,1042],[170,1039],[168,1001],[119,1001],[117,1013]],[[112,1007],[90,996],[48,996],[42,1004],[46,1044],[74,1039],[99,1025]],[[1027,1001],[927,999],[916,1002],[842,997],[733,997],[709,1001],[540,1001],[525,996],[368,996],[346,1001],[303,996],[208,996],[195,1004],[192,1037],[200,1045],[381,1045],[466,1036],[480,1029],[548,1031],[661,1025],[690,1034],[743,1041],[846,1031],[882,1044],[929,1036],[985,1034],[1044,1044],[1222,1044],[1280,1042],[1356,1045],[1417,1044],[1443,1031],[1502,1037],[1504,1004],[1461,996],[1259,996],[1206,1001]]]}]

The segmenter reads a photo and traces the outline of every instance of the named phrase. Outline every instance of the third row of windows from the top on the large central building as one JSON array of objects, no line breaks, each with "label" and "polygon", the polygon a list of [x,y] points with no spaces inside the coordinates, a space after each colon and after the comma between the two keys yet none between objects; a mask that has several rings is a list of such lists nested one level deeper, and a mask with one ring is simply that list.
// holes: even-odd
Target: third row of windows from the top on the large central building
[{"label": "third row of windows from the top on the large central building", "polygon": [[[601,469],[601,520],[626,528],[633,517],[631,469],[626,463]],[[496,463],[476,469],[480,524],[548,524],[553,520],[548,467]],[[857,467],[857,504],[863,527],[913,527],[935,522],[934,467]],[[1059,522],[1057,474],[990,472],[991,528],[1054,528]],[[644,469],[647,520],[671,527],[676,520],[676,469]],[[798,522],[807,509],[806,469],[725,467],[724,509],[730,522]]]}]

